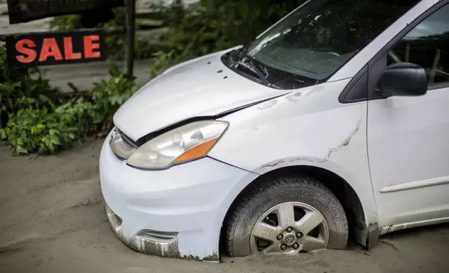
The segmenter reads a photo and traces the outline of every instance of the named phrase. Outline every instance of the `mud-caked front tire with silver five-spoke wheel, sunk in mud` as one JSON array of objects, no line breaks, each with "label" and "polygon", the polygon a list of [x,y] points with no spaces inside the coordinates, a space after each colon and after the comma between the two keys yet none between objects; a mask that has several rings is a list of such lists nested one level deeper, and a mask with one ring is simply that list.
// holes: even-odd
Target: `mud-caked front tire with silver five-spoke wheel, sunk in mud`
[{"label": "mud-caked front tire with silver five-spoke wheel, sunk in mud", "polygon": [[266,180],[245,194],[229,216],[225,241],[229,255],[248,256],[345,249],[347,240],[335,195],[314,178],[295,176]]}]

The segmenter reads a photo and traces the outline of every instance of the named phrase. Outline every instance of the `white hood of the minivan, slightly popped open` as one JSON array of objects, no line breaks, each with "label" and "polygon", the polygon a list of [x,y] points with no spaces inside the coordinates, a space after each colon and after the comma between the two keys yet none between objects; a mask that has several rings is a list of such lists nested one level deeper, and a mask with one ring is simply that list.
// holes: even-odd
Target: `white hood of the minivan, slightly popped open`
[{"label": "white hood of the minivan, slightly popped open", "polygon": [[181,120],[215,116],[289,91],[257,84],[227,68],[225,52],[181,63],[143,86],[114,115],[114,125],[132,140]]}]

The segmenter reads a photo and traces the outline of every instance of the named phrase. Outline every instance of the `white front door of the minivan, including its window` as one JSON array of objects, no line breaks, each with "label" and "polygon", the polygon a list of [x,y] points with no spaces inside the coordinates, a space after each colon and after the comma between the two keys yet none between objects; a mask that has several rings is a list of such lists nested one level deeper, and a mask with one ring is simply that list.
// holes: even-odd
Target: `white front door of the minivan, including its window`
[{"label": "white front door of the minivan, including its window", "polygon": [[[368,102],[367,147],[382,226],[449,219],[449,5],[426,17],[369,71],[397,61],[425,68],[426,95]],[[393,52],[393,53],[392,53]],[[370,88],[370,87],[369,87]]]}]

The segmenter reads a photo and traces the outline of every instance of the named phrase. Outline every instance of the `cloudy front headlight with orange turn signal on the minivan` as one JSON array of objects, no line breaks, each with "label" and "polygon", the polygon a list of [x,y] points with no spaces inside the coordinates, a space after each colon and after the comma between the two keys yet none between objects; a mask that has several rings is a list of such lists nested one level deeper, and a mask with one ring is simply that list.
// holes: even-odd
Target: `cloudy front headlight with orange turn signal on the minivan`
[{"label": "cloudy front headlight with orange turn signal on the minivan", "polygon": [[127,163],[142,169],[167,169],[207,155],[227,128],[215,120],[197,121],[161,134],[140,146]]}]

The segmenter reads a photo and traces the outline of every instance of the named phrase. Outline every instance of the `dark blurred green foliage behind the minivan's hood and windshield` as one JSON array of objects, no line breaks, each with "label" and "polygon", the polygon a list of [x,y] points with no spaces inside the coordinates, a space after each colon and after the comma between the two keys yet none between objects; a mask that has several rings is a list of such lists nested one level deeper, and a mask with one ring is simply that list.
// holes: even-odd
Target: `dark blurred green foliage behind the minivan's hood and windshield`
[{"label": "dark blurred green foliage behind the minivan's hood and windshield", "polygon": [[235,45],[242,45],[280,20],[305,0],[200,0],[183,6],[174,1],[165,13],[171,30],[161,38],[166,50],[155,54],[151,74],[163,68]]}]

